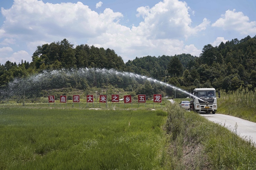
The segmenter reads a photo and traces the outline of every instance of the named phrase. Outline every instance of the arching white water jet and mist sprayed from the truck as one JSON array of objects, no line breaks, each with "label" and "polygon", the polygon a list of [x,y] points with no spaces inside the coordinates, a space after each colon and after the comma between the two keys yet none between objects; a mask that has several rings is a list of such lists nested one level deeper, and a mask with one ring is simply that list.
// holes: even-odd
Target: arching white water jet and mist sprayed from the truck
[{"label": "arching white water jet and mist sprayed from the truck", "polygon": [[17,99],[21,98],[20,96],[24,94],[27,98],[41,97],[42,91],[61,88],[86,89],[88,86],[97,86],[99,88],[106,86],[107,82],[117,85],[117,87],[128,87],[129,85],[133,86],[135,82],[142,84],[146,80],[167,88],[172,88],[175,92],[180,91],[183,94],[192,96],[189,92],[177,88],[174,85],[139,74],[121,72],[114,69],[80,68],[43,71],[27,78],[14,79],[14,81],[9,82],[6,88],[0,89],[0,98],[2,100]]}]

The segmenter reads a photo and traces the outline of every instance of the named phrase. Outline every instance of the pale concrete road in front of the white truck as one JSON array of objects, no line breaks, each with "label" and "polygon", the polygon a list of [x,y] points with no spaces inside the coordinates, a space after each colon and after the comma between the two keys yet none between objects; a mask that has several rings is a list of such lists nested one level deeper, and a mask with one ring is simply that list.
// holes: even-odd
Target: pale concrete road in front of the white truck
[{"label": "pale concrete road in front of the white truck", "polygon": [[256,123],[224,114],[200,113],[200,115],[212,122],[225,125],[233,132],[235,132],[237,124],[236,133],[242,138],[252,139],[256,143]]}]

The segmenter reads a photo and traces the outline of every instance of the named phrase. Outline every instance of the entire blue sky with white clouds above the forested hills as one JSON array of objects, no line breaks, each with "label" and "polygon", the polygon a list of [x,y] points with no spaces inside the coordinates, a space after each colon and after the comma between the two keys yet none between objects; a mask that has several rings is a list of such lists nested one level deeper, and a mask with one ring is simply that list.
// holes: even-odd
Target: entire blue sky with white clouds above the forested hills
[{"label": "entire blue sky with white clouds above the forested hills", "polygon": [[192,54],[256,35],[254,0],[1,0],[0,63],[66,38],[135,57]]}]

